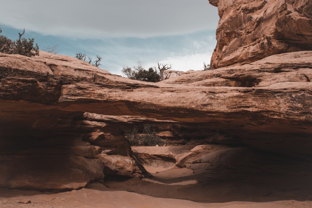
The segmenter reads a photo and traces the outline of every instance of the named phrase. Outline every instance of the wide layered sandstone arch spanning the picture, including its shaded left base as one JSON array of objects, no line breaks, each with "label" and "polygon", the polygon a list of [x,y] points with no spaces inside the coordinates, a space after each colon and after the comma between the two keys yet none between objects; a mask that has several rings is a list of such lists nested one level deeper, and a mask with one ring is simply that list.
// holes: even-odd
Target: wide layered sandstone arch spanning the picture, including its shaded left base
[{"label": "wide layered sandstone arch spanning the picture, including its shaded left base", "polygon": [[125,129],[311,155],[312,52],[148,83],[68,56],[0,54],[0,186],[76,189],[139,176]]}]

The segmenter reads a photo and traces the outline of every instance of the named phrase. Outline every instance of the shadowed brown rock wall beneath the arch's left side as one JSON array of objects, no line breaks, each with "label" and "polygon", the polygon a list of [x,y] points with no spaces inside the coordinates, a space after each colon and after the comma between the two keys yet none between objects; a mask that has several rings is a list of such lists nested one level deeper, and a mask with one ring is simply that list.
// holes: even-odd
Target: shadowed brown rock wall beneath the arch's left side
[{"label": "shadowed brown rock wall beneath the arch's left side", "polygon": [[[2,187],[78,189],[112,173],[141,175],[129,142],[110,119],[15,100],[2,100],[0,109]],[[107,171],[105,156],[116,154],[131,161],[119,162],[127,171]]]}]

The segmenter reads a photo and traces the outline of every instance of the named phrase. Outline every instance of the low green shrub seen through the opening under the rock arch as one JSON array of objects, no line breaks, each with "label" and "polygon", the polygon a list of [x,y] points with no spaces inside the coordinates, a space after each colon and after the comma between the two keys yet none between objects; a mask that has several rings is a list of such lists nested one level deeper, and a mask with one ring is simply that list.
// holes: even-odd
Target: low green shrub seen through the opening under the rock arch
[{"label": "low green shrub seen through the opening under the rock arch", "polygon": [[125,136],[132,146],[163,146],[165,140],[157,135],[153,125],[144,124],[143,133],[140,134],[138,128],[134,126],[133,130],[126,130]]}]

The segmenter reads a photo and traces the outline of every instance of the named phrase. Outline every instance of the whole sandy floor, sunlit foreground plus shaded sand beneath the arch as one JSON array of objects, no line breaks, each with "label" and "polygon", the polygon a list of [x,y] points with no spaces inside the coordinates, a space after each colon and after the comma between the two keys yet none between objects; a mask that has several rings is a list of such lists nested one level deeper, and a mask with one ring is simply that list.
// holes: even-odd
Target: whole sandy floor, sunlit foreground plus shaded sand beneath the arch
[{"label": "whole sandy floor, sunlit foreground plus shaded sand beneath the arch", "polygon": [[[312,192],[308,190],[282,188],[272,191],[229,181],[207,186],[195,179],[197,176],[193,171],[177,167],[152,175],[154,177],[143,180],[109,178],[105,181],[106,186],[92,183],[87,188],[59,193],[0,188],[0,207],[312,207]],[[31,203],[21,203],[28,201]]]}]

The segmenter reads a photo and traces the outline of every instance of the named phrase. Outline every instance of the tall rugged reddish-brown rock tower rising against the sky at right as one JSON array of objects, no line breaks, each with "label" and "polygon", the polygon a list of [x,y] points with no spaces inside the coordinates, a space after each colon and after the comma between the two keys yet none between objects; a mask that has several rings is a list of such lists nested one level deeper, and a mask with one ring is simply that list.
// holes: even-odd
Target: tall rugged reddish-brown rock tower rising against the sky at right
[{"label": "tall rugged reddish-brown rock tower rising against the sky at right", "polygon": [[311,1],[209,2],[218,7],[220,16],[212,69],[312,48]]}]

